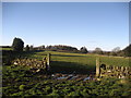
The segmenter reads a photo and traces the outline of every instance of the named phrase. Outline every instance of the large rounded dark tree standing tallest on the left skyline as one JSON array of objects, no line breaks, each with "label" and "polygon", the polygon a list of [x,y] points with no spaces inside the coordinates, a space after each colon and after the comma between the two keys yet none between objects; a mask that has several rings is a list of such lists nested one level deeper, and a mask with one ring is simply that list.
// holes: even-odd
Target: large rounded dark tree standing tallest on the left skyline
[{"label": "large rounded dark tree standing tallest on the left skyline", "polygon": [[14,51],[23,51],[24,48],[24,41],[21,38],[14,38],[12,44],[12,49]]}]

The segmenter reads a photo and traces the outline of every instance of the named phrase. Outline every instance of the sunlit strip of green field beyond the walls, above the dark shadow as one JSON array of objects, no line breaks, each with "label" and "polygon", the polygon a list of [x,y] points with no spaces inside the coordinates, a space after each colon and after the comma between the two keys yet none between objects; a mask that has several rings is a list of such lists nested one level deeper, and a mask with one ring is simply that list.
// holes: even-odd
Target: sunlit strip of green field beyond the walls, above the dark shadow
[{"label": "sunlit strip of green field beyond the walls, above the dark shadow", "polygon": [[81,54],[81,53],[67,53],[56,51],[41,51],[33,54],[33,58],[43,59],[47,53],[51,53],[51,61],[72,62],[82,65],[95,65],[96,57],[100,58],[102,63],[109,65],[131,65],[129,61],[131,58],[119,58],[119,57],[102,57],[97,54]]}]

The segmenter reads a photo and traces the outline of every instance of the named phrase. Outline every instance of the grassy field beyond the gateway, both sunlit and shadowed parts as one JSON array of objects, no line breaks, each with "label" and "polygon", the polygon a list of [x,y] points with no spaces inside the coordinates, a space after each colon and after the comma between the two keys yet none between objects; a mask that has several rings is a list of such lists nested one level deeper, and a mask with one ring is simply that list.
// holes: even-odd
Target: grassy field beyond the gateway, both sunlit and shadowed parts
[{"label": "grassy field beyond the gateway, both sunlit and shadowed parts", "polygon": [[[43,60],[47,53],[51,53],[51,69],[53,72],[72,73],[92,73],[95,72],[96,58],[99,57],[100,63],[108,65],[130,66],[131,59],[122,57],[106,57],[98,54],[81,54],[57,51],[40,51],[25,57]],[[69,70],[70,69],[70,70]]]}]

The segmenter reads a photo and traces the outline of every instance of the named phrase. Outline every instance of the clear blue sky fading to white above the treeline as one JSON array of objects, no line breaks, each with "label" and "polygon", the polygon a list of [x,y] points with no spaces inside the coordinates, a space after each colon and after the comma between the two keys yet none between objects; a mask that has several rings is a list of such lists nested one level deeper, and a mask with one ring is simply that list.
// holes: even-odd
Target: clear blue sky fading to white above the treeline
[{"label": "clear blue sky fading to white above the treeline", "polygon": [[68,45],[94,50],[129,45],[128,2],[3,2],[2,45]]}]

